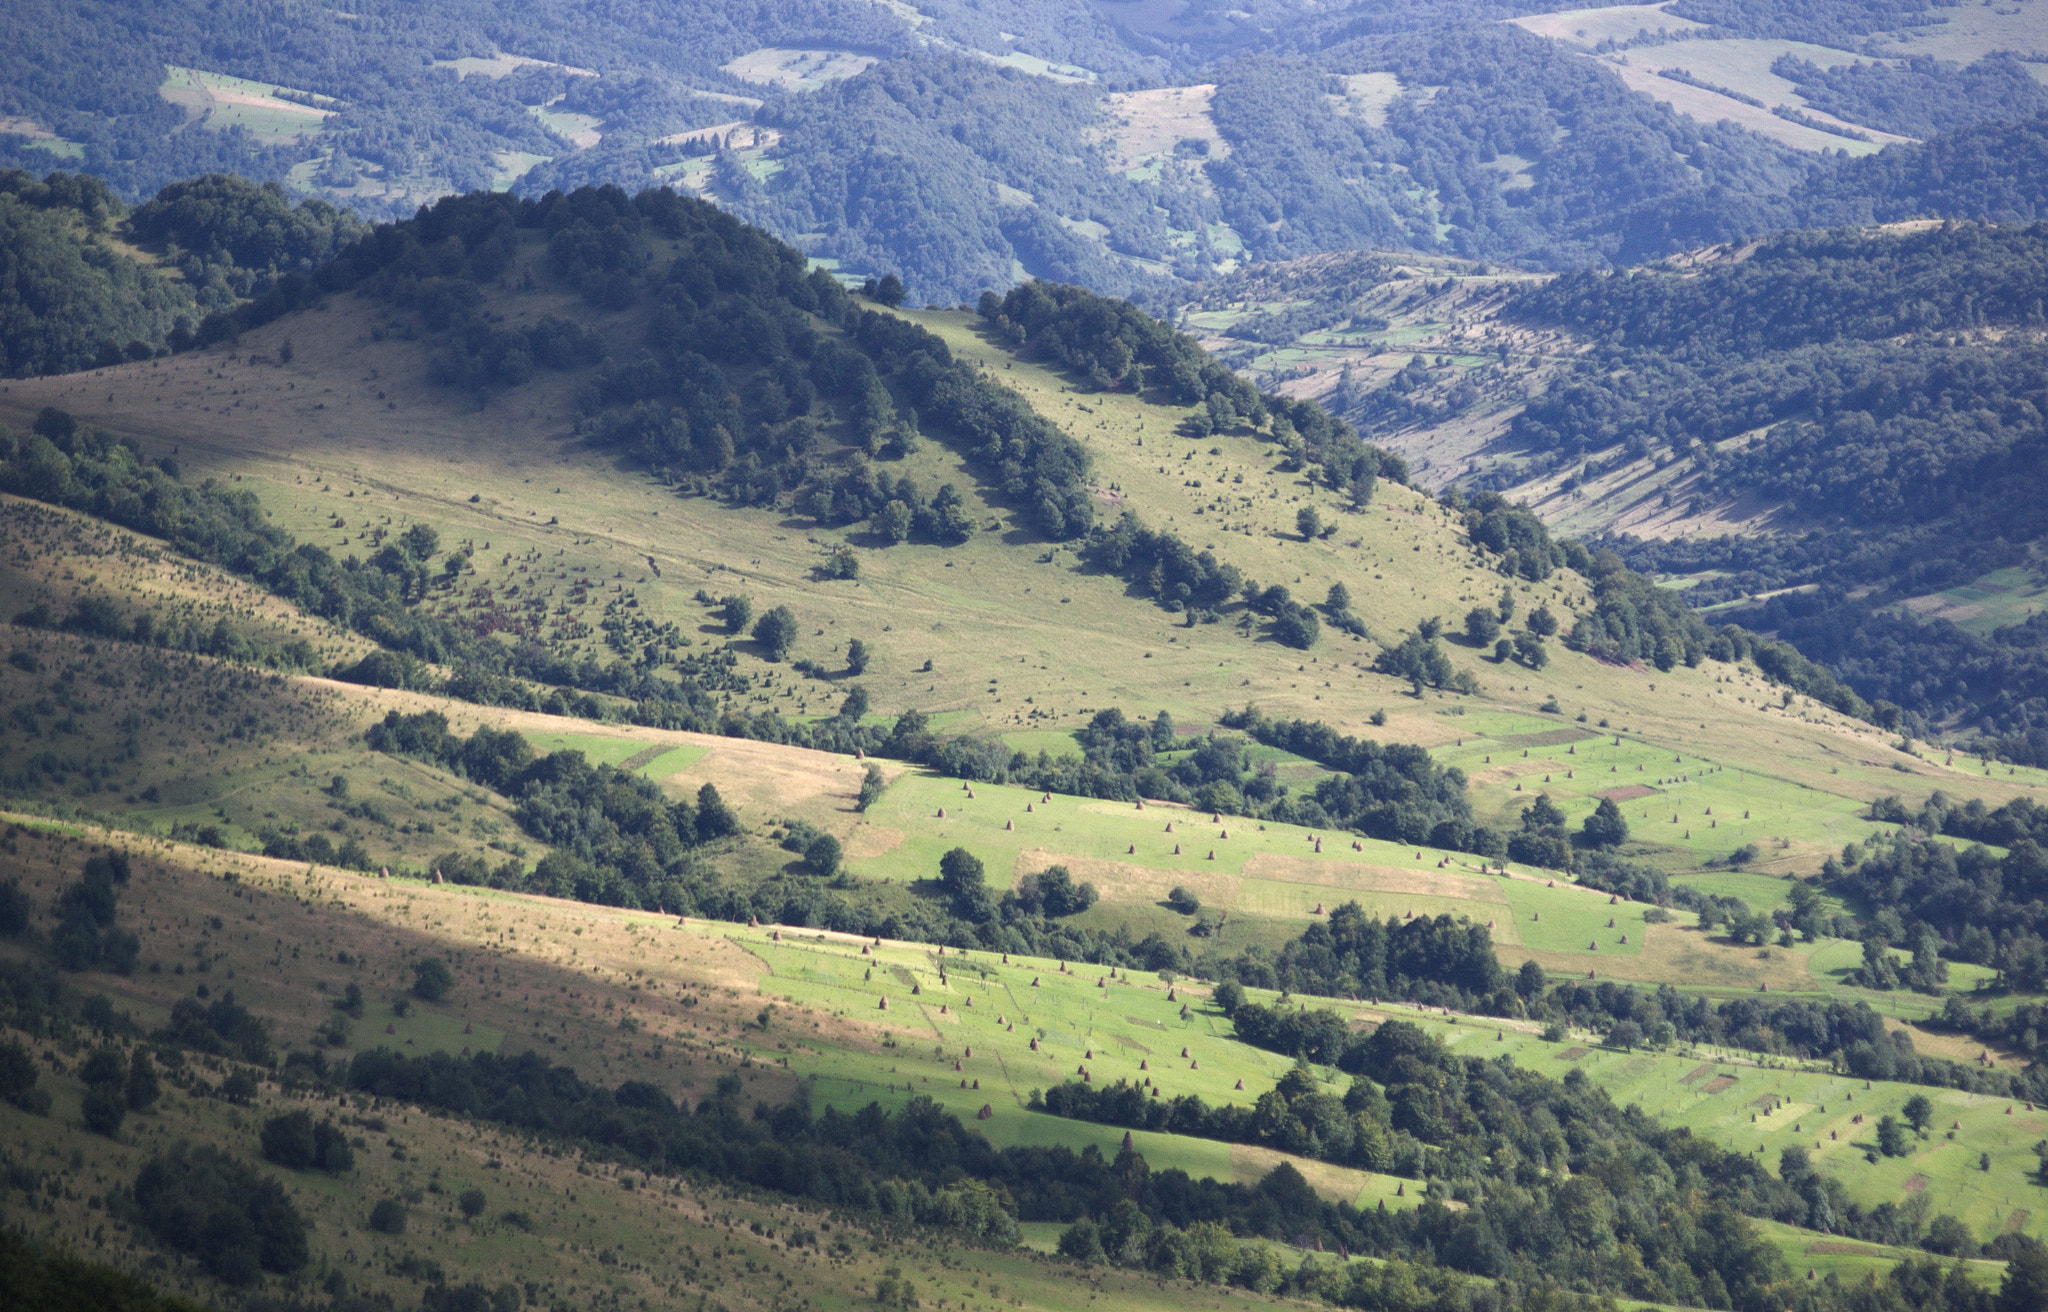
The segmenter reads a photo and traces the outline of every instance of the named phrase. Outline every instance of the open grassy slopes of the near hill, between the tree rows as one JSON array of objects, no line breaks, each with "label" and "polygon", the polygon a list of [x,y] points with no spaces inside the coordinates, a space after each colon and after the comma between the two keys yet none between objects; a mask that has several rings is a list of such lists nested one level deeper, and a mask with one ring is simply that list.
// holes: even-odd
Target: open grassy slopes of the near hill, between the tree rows
[{"label": "open grassy slopes of the near hill, between the tree rows", "polygon": [[[520,260],[535,258],[537,246],[522,248]],[[1446,295],[1483,293],[1464,287]],[[508,295],[496,309],[508,323],[586,313],[555,293]],[[1446,332],[1464,330],[1454,307],[1430,313],[1438,309]],[[272,524],[344,557],[430,524],[444,551],[469,546],[473,561],[436,585],[426,608],[485,626],[516,600],[532,635],[592,657],[610,655],[598,628],[604,614],[631,610],[657,626],[674,624],[684,653],[729,649],[741,675],[727,696],[733,710],[827,716],[858,684],[877,723],[915,708],[948,733],[1063,753],[1102,708],[1139,716],[1167,710],[1182,733],[1206,733],[1225,712],[1257,704],[1270,716],[1427,747],[1466,774],[1487,823],[1513,825],[1542,792],[1577,825],[1602,796],[1614,796],[1632,827],[1626,856],[1755,909],[1782,905],[1790,876],[1812,874],[1829,854],[1884,829],[1864,819],[1876,798],[1919,804],[1946,790],[1993,806],[2015,796],[2048,800],[2044,772],[1915,755],[1868,725],[1782,696],[1753,667],[1618,667],[1552,645],[1550,665],[1532,671],[1454,639],[1450,657],[1479,692],[1415,696],[1405,682],[1372,671],[1380,645],[1432,616],[1456,635],[1464,612],[1495,606],[1503,587],[1518,618],[1548,606],[1569,628],[1589,606],[1585,579],[1565,571],[1542,583],[1507,583],[1462,524],[1419,491],[1382,485],[1366,510],[1337,506],[1327,489],[1280,469],[1278,452],[1257,438],[1178,436],[1180,407],[1087,393],[1018,360],[973,315],[911,317],[1090,448],[1104,516],[1139,514],[1212,549],[1247,577],[1286,583],[1296,598],[1321,600],[1341,583],[1372,641],[1325,630],[1303,653],[1235,624],[1186,626],[1120,579],[1085,567],[1071,544],[1036,538],[975,469],[932,440],[887,469],[928,487],[950,481],[963,489],[979,532],[954,549],[885,549],[858,526],[829,530],[795,514],[678,495],[578,440],[573,395],[586,377],[549,375],[479,409],[473,397],[428,387],[424,352],[387,332],[383,307],[354,295],[254,330],[231,350],[16,381],[0,393],[0,420],[27,428],[41,405],[61,405],[86,424],[137,438],[152,456],[176,456],[190,479],[233,481],[256,493]],[[643,311],[600,321],[614,350],[643,330]],[[287,338],[295,344],[287,364],[258,362],[281,358]],[[1294,516],[1305,506],[1337,530],[1303,540]],[[858,555],[858,579],[825,579],[819,569],[842,544]],[[768,661],[752,641],[725,635],[713,610],[725,594],[750,596],[756,612],[791,606],[801,624],[795,657],[811,669]],[[799,1083],[831,1105],[926,1093],[993,1142],[1075,1148],[1112,1148],[1122,1132],[1030,1113],[1032,1089],[1085,1070],[1098,1081],[1153,1079],[1171,1093],[1249,1101],[1290,1066],[1237,1044],[1204,989],[1157,976],[1112,978],[1106,968],[1001,962],[979,952],[940,956],[811,929],[676,923],[252,856],[266,831],[356,839],[377,862],[412,870],[451,849],[492,864],[545,854],[520,833],[508,798],[418,761],[369,753],[362,731],[393,708],[438,708],[465,733],[477,725],[516,729],[541,751],[575,749],[676,796],[717,784],[748,829],[717,854],[737,874],[786,872],[788,854],[772,845],[772,833],[803,821],[838,835],[848,872],[903,905],[936,894],[938,858],[961,845],[985,862],[995,886],[1067,866],[1102,894],[1079,923],[1159,931],[1198,952],[1278,948],[1329,909],[1358,901],[1382,917],[1448,913],[1485,923],[1509,968],[1534,960],[1556,976],[1673,985],[1712,997],[1767,989],[1860,999],[1901,1025],[1939,1007],[1931,997],[1849,987],[1843,976],[1860,962],[1851,942],[1735,946],[1704,933],[1690,913],[1647,923],[1642,905],[1546,870],[1509,864],[1507,872],[1485,872],[1468,854],[1159,802],[969,786],[895,761],[879,761],[887,790],[862,813],[854,798],[866,763],[848,757],[463,706],[51,626],[96,596],[111,598],[125,624],[143,612],[188,628],[225,624],[250,649],[305,643],[324,665],[360,657],[367,645],[160,544],[0,499],[0,608],[8,616],[47,610],[43,624],[8,628],[8,659],[0,663],[0,712],[23,745],[0,792],[45,813],[35,829],[8,839],[8,872],[49,907],[76,872],[84,841],[119,841],[139,854],[121,915],[143,939],[143,966],[92,987],[106,989],[145,1027],[201,985],[231,987],[283,1044],[305,1046],[332,1019],[338,991],[360,982],[365,1015],[346,1025],[330,1058],[379,1044],[455,1054],[537,1050],[588,1079],[647,1079],[684,1097],[727,1073],[743,1077],[750,1097],[770,1101]],[[844,673],[852,639],[874,651],[860,680]],[[1311,790],[1327,774],[1264,747],[1251,757],[1272,761],[1294,790]],[[1729,864],[1737,847],[1755,847],[1741,868]],[[1165,905],[1176,886],[1200,899],[1200,921]],[[1196,923],[1210,933],[1190,935]],[[393,1001],[420,956],[449,958],[457,993],[399,1015]],[[1952,989],[1980,982],[1976,968],[1952,970]],[[1999,999],[2001,1007],[2015,1003]],[[1911,1087],[1866,1089],[1831,1070],[1743,1052],[1618,1052],[1589,1036],[1544,1042],[1532,1025],[1327,1005],[1360,1023],[1415,1019],[1462,1052],[1509,1056],[1548,1075],[1585,1070],[1616,1099],[1761,1152],[1769,1165],[1784,1146],[1808,1144],[1872,1206],[1954,1212],[1978,1236],[2040,1232],[2030,1212],[2038,1189],[2032,1144],[2048,1138],[2048,1111],[1939,1093],[1929,1138],[1905,1158],[1870,1163],[1864,1154],[1876,1116],[1896,1111]],[[1956,1040],[1919,1030],[1913,1038],[1923,1052],[1974,1056]],[[47,1044],[39,1052],[55,1058],[57,1113],[31,1122],[0,1109],[0,1122],[20,1152],[70,1163],[53,1169],[76,1185],[133,1171],[137,1154],[158,1140],[246,1144],[260,1111],[174,1095],[164,1111],[137,1118],[129,1138],[86,1140],[76,1130],[78,1089],[63,1083],[80,1052]],[[266,1089],[262,1107],[283,1097]],[[983,1107],[989,1120],[975,1120]],[[373,1109],[334,1111],[362,1118]],[[395,1296],[416,1294],[410,1277],[393,1275],[399,1249],[373,1249],[352,1220],[373,1191],[418,1191],[436,1253],[446,1240],[440,1261],[451,1269],[518,1273],[545,1253],[553,1271],[545,1279],[555,1281],[549,1296],[565,1302],[596,1302],[600,1292],[690,1298],[702,1312],[696,1294],[717,1287],[729,1306],[780,1300],[786,1308],[795,1275],[813,1306],[836,1308],[860,1302],[883,1263],[918,1263],[920,1289],[930,1283],[920,1298],[944,1298],[963,1312],[1149,1310],[1208,1298],[1223,1306],[1210,1292],[1124,1273],[1096,1271],[1083,1292],[1065,1267],[1030,1251],[893,1247],[897,1240],[862,1236],[846,1251],[791,1257],[772,1234],[754,1232],[756,1224],[795,1224],[788,1210],[672,1193],[475,1128],[420,1113],[408,1120],[403,1109],[393,1130],[385,1111],[377,1109],[383,1136],[395,1142],[365,1154],[360,1181],[295,1187],[319,1220],[322,1259]],[[1137,1140],[1155,1167],[1217,1179],[1253,1181],[1282,1161],[1178,1136]],[[1417,1193],[1411,1181],[1296,1165],[1327,1197],[1411,1206]],[[535,1232],[457,1220],[446,1199],[475,1181],[506,1208],[526,1212]],[[39,1224],[55,1236],[100,1242],[80,1238],[98,1222],[74,1201]],[[494,1201],[489,1218],[498,1208]],[[1888,1257],[1804,1232],[1774,1236],[1794,1265],[1823,1273],[1862,1275]],[[1032,1230],[1028,1240],[1042,1249],[1053,1234]],[[662,1275],[662,1259],[678,1249],[692,1259],[696,1251],[711,1255],[709,1267],[692,1263],[700,1283],[684,1292]],[[178,1279],[205,1287],[188,1271]],[[537,1271],[532,1279],[543,1277]]]}]

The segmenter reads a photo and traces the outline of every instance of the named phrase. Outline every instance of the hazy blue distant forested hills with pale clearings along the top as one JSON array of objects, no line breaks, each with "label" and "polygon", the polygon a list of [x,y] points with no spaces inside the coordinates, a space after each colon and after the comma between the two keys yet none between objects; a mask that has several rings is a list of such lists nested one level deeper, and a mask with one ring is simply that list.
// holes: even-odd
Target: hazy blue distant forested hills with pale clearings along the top
[{"label": "hazy blue distant forested hills with pale clearings along the top", "polygon": [[[2025,49],[1845,70],[1878,33],[1952,23],[1937,10],[1704,4],[1696,33],[1720,47],[1804,33],[1839,59],[1747,70],[1796,88],[1774,108],[1708,86],[1718,100],[1686,111],[1591,37],[1518,25],[1546,8],[1018,0],[995,25],[961,0],[428,0],[287,20],[162,0],[131,20],[27,0],[0,12],[0,166],[80,168],[129,201],[236,172],[385,219],[451,192],[676,184],[846,270],[897,272],[920,303],[1020,274],[1163,303],[1247,256],[1364,246],[1561,270],[2034,211],[2038,147],[1980,131],[2042,108]],[[1956,139],[1849,160],[1866,127]]]}]

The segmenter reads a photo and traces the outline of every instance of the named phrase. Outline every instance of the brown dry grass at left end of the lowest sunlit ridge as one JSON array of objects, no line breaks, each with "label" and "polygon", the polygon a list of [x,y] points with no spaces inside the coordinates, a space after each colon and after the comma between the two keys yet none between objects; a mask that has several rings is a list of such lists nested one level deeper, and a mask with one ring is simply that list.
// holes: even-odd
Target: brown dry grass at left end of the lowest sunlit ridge
[{"label": "brown dry grass at left end of the lowest sunlit ridge", "polygon": [[[141,958],[190,960],[199,946],[215,985],[233,970],[236,1001],[270,1021],[287,1048],[303,1046],[334,1013],[330,997],[342,982],[358,980],[371,999],[399,995],[410,962],[426,954],[451,964],[457,987],[442,1003],[416,1009],[418,1019],[475,1023],[479,1034],[502,1034],[502,1054],[532,1050],[664,1089],[709,1089],[733,1070],[743,1058],[721,1048],[719,1036],[760,1009],[760,958],[723,935],[676,929],[674,917],[383,880],[92,827],[59,837],[35,829],[47,821],[23,819],[29,829],[16,835],[8,866],[39,907],[55,905],[57,888],[76,878],[94,845],[127,849],[133,874],[119,923],[141,939]],[[207,933],[213,917],[233,929]],[[252,944],[266,948],[258,954]],[[336,960],[338,948],[350,954],[348,966]],[[94,989],[152,1027],[205,978],[137,970],[94,980]],[[616,1017],[633,1017],[639,1030],[621,1032]],[[860,1030],[848,1038],[858,1042]],[[348,1048],[379,1040],[360,1023]],[[659,1044],[668,1044],[666,1056],[655,1052]],[[770,1099],[795,1089],[795,1077],[752,1062],[745,1079],[750,1093]]]}]

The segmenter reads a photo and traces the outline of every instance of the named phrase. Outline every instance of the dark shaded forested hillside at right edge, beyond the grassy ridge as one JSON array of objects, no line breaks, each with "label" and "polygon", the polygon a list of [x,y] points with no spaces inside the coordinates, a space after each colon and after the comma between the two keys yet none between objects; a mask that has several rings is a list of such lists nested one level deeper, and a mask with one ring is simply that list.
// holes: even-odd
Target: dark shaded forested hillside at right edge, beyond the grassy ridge
[{"label": "dark shaded forested hillside at right edge, beyond the grassy ridge", "polygon": [[[1513,422],[1552,469],[1649,461],[1667,495],[1778,506],[1792,532],[1620,542],[1702,575],[1909,727],[2042,759],[2048,628],[1970,635],[1896,602],[2032,567],[2048,536],[2048,223],[1792,233],[1700,270],[1573,274],[1509,315],[1593,350]],[[1853,594],[1853,600],[1851,600]]]}]

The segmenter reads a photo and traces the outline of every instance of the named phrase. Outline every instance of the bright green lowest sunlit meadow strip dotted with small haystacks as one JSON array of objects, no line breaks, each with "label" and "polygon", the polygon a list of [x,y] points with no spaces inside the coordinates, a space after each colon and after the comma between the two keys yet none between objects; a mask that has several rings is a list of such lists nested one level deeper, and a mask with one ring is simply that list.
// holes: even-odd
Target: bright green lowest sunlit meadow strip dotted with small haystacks
[{"label": "bright green lowest sunlit meadow strip dotted with small haystacks", "polygon": [[[989,1103],[995,1116],[983,1122],[983,1130],[995,1142],[1010,1142],[1008,1136],[1028,1136],[1014,1142],[1044,1142],[1042,1136],[1055,1134],[1028,1124],[1059,1118],[1020,1111],[1018,1099],[1032,1087],[1075,1079],[1075,1068],[1083,1064],[1096,1081],[1151,1077],[1167,1095],[1196,1093],[1210,1103],[1255,1101],[1292,1064],[1231,1038],[1229,1021],[1200,987],[1171,985],[1190,1007],[1188,1019],[1182,1019],[1180,1001],[1167,1003],[1169,985],[1163,980],[1130,976],[1112,982],[1094,966],[1063,972],[1061,962],[1012,956],[1010,964],[1001,964],[999,954],[981,952],[965,960],[956,954],[938,958],[924,946],[887,942],[883,948],[868,944],[870,956],[862,956],[860,939],[809,929],[694,923],[690,929],[743,944],[760,956],[770,966],[760,980],[764,993],[846,1019],[866,1017],[895,1032],[895,1048],[840,1048],[831,1040],[807,1040],[772,1052],[776,1060],[786,1060],[788,1070],[817,1077],[823,1097],[854,1093],[862,1101],[907,1101],[911,1093],[924,1093],[963,1120]],[[840,960],[829,962],[834,956]],[[938,974],[942,960],[948,964],[944,985]],[[860,978],[870,968],[874,978]],[[1098,978],[1106,987],[1098,987]],[[1038,980],[1036,987],[1030,980]],[[991,1003],[997,993],[1004,1001]],[[883,997],[889,999],[887,1011],[877,1005]],[[1278,999],[1266,991],[1247,991],[1247,997],[1264,1003]],[[967,999],[975,1003],[969,1007]],[[1872,1083],[1815,1062],[1731,1050],[1620,1052],[1583,1034],[1546,1042],[1534,1023],[1456,1017],[1395,1003],[1290,1001],[1335,1007],[1366,1023],[1409,1019],[1460,1054],[1507,1056],[1550,1077],[1577,1066],[1618,1103],[1636,1103],[1661,1122],[1690,1128],[1726,1148],[1761,1152],[1769,1165],[1782,1148],[1806,1144],[1817,1165],[1843,1179],[1864,1206],[1925,1197],[1931,1212],[1954,1212],[1978,1238],[2007,1226],[2042,1232],[2032,1218],[2032,1144],[2048,1132],[2048,1109],[1919,1085]],[[948,1007],[946,1013],[938,1011],[940,1005]],[[1016,1011],[1004,1009],[1008,1005]],[[1038,1040],[1036,1052],[1032,1038]],[[973,1054],[967,1054],[969,1048]],[[1188,1058],[1178,1056],[1182,1048]],[[770,1054],[764,1042],[756,1042],[756,1050]],[[1145,1075],[1139,1073],[1141,1060],[1147,1062]],[[1346,1083],[1335,1070],[1325,1070],[1325,1077],[1339,1087]],[[969,1085],[981,1081],[981,1089],[961,1089],[963,1079]],[[1239,1079],[1245,1083],[1241,1091],[1235,1087]],[[1929,1095],[1935,1103],[1931,1136],[1915,1142],[1907,1156],[1866,1163],[1878,1118],[1896,1116],[1915,1095]],[[1018,1118],[1028,1128],[1004,1126]],[[1952,1122],[1956,1130],[1948,1138]],[[1120,1142],[1122,1132],[1081,1124],[1069,1134],[1077,1134],[1077,1142]],[[1978,1154],[1989,1154],[1989,1171],[1978,1169]],[[1212,1150],[1200,1156],[1212,1156]],[[1167,1163],[1178,1165],[1174,1158]],[[1825,1236],[1810,1238],[1821,1242]]]}]

